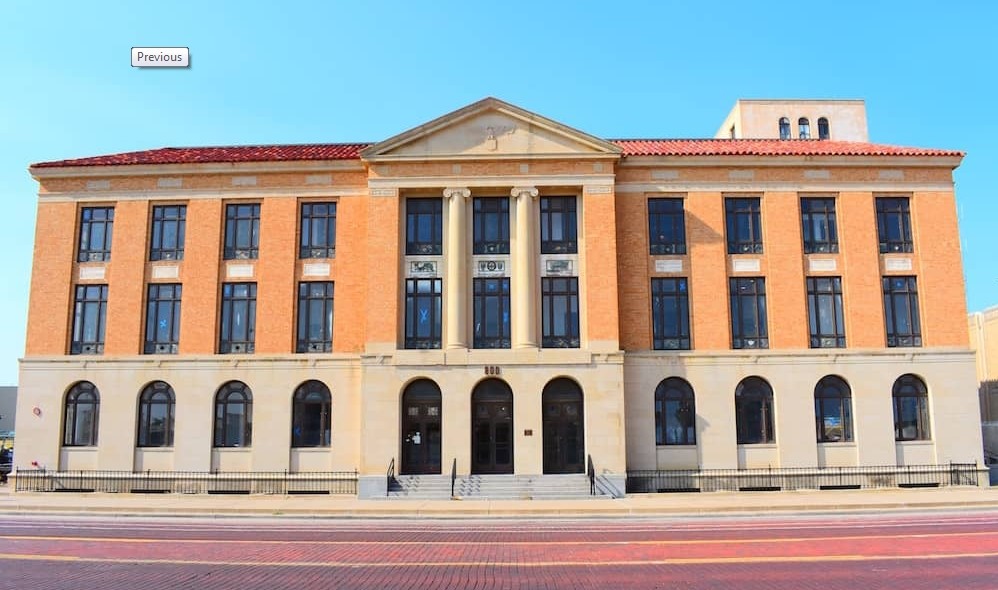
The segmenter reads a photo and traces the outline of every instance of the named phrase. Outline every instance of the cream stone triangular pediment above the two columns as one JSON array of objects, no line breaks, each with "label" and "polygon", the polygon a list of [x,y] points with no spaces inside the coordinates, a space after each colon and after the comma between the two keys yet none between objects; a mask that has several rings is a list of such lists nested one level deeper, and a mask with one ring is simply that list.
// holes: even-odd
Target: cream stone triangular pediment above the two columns
[{"label": "cream stone triangular pediment above the two columns", "polygon": [[361,152],[368,161],[617,157],[608,141],[486,98]]}]

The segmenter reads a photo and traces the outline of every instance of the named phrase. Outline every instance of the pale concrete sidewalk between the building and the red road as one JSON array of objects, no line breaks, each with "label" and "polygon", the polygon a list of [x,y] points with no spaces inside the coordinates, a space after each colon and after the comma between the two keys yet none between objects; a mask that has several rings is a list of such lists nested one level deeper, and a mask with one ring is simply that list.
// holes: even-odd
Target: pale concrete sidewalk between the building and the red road
[{"label": "pale concrete sidewalk between the building and the red road", "polygon": [[295,516],[313,518],[641,517],[998,509],[998,488],[635,494],[598,500],[358,500],[353,496],[11,493],[0,514]]}]

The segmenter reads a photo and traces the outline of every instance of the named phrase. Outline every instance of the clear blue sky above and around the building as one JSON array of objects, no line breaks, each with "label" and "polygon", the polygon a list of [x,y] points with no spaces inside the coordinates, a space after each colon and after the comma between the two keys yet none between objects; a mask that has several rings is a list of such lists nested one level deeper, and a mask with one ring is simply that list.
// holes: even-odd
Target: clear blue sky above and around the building
[{"label": "clear blue sky above and around the building", "polygon": [[[996,6],[2,0],[0,384],[24,351],[29,163],[378,141],[485,96],[612,138],[710,137],[738,98],[863,98],[871,141],[967,152],[967,301],[996,305]],[[129,65],[176,45],[190,69]]]}]

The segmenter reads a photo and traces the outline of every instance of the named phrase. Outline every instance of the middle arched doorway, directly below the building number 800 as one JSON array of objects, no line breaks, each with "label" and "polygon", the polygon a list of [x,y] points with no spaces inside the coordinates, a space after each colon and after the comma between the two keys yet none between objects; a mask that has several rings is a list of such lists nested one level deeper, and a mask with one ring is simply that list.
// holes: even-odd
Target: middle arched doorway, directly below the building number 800
[{"label": "middle arched doorway, directly below the building number 800", "polygon": [[471,393],[471,472],[513,473],[513,390],[499,379]]}]

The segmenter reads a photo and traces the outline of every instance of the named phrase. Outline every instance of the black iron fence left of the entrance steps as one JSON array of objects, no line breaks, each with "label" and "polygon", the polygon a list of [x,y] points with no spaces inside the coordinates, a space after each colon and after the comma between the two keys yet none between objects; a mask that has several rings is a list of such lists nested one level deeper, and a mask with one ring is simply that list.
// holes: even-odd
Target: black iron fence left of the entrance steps
[{"label": "black iron fence left of the entrance steps", "polygon": [[17,471],[18,492],[145,494],[356,494],[356,471]]}]

